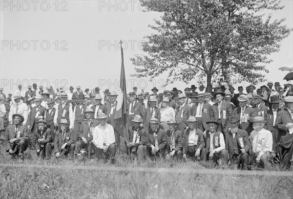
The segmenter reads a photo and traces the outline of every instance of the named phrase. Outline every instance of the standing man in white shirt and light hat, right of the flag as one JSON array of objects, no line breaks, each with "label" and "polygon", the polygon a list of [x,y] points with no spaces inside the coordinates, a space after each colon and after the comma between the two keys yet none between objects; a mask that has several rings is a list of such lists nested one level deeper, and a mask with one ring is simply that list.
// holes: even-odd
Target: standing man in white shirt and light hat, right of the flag
[{"label": "standing man in white shirt and light hat, right of the flag", "polygon": [[167,125],[167,121],[169,120],[175,120],[175,111],[173,108],[169,107],[169,98],[164,97],[162,100],[162,108],[160,109],[161,113],[161,129],[167,133],[169,130],[169,126]]}]

